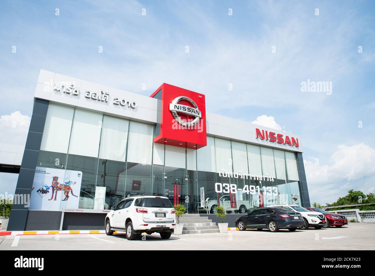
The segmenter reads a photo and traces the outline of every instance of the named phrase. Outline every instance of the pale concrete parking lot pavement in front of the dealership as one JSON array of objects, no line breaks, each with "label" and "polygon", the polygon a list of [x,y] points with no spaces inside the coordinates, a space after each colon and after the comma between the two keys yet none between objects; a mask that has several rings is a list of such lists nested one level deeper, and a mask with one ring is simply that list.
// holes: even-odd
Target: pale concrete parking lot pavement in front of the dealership
[{"label": "pale concrete parking lot pavement in front of the dealership", "polygon": [[58,234],[0,237],[0,250],[373,250],[375,224],[349,223],[342,228],[228,231],[228,233],[142,235],[129,241],[123,234]]}]

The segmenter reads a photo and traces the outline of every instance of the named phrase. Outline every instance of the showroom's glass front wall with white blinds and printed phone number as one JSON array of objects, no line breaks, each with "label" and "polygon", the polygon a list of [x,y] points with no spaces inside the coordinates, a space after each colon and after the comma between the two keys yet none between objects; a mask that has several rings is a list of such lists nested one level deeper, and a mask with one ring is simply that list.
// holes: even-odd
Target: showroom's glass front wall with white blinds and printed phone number
[{"label": "showroom's glass front wall with white blinds and printed phone number", "polygon": [[[167,196],[188,213],[214,213],[218,205],[247,213],[301,204],[293,152],[210,136],[206,147],[192,150],[154,144],[153,138],[152,124],[49,104],[37,169],[51,184],[34,188],[55,199],[58,210],[69,200],[78,202],[76,208],[109,209],[137,194]],[[35,209],[45,210],[40,206]]]}]

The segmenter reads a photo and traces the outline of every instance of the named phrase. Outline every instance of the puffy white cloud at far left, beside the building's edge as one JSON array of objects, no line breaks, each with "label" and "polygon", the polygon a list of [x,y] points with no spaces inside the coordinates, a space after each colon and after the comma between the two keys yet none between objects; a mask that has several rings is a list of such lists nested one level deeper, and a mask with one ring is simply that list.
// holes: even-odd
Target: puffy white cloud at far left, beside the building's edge
[{"label": "puffy white cloud at far left, beside the building's edge", "polygon": [[0,117],[0,142],[15,145],[24,145],[31,118],[15,111],[10,115]]}]

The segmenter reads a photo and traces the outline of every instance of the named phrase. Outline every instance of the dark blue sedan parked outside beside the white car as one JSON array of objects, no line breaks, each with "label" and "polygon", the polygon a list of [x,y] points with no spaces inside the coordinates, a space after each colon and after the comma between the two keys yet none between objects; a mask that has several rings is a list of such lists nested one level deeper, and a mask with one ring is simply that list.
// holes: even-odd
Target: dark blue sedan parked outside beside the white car
[{"label": "dark blue sedan parked outside beside the white car", "polygon": [[295,231],[303,226],[305,221],[300,213],[284,208],[258,208],[246,216],[236,220],[236,227],[240,231],[246,228],[257,228],[258,230],[269,229],[277,232],[279,229]]}]

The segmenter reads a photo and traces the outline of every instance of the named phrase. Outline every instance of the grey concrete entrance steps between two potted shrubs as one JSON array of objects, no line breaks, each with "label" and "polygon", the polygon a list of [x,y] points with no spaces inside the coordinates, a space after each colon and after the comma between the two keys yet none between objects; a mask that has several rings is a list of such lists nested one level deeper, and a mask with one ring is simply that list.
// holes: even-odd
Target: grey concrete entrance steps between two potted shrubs
[{"label": "grey concrete entrance steps between two potted shrubs", "polygon": [[180,223],[184,224],[182,234],[219,233],[219,227],[207,216],[184,214],[180,217]]}]

